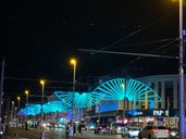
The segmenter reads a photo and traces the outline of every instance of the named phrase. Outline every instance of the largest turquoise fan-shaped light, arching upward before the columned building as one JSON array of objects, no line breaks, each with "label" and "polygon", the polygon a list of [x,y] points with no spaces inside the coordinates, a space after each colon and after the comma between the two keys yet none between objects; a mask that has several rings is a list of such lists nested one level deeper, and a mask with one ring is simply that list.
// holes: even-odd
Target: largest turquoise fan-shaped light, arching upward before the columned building
[{"label": "largest turquoise fan-shaped light, arching upward before the columned building", "polygon": [[126,98],[128,101],[162,101],[153,89],[135,79],[111,79],[98,86],[92,92],[103,93],[104,100],[123,100]]}]

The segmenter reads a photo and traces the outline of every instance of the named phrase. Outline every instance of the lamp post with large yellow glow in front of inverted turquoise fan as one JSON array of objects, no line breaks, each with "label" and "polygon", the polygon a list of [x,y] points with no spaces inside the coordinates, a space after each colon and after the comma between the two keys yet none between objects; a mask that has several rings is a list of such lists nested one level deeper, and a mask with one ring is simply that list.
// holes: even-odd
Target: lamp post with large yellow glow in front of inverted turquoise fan
[{"label": "lamp post with large yellow glow in front of inverted turquoise fan", "polygon": [[72,94],[72,128],[74,129],[74,91],[75,91],[75,74],[76,74],[76,60],[75,59],[71,59],[71,64],[74,67],[74,72],[73,72],[73,94]]}]

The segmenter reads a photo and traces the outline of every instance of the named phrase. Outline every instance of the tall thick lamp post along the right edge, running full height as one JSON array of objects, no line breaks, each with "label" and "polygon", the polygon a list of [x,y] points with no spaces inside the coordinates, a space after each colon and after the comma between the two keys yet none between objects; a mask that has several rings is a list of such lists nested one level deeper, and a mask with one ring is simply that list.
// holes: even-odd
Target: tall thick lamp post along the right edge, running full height
[{"label": "tall thick lamp post along the right edge, running full height", "polygon": [[185,136],[183,0],[179,0],[179,136]]}]

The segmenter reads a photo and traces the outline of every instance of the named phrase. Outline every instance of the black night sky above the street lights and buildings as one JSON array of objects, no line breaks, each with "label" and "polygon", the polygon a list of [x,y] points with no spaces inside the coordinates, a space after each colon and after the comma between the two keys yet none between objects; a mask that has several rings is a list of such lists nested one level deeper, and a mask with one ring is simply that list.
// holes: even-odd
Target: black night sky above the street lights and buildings
[{"label": "black night sky above the street lights and buildings", "polygon": [[78,81],[127,66],[137,66],[134,72],[141,75],[176,74],[177,60],[78,49],[177,56],[177,38],[178,2],[172,0],[11,1],[9,43],[0,48],[4,92],[17,96],[28,88],[40,93],[39,78],[50,80],[46,93],[71,86],[63,81],[72,81],[72,56],[77,59]]}]

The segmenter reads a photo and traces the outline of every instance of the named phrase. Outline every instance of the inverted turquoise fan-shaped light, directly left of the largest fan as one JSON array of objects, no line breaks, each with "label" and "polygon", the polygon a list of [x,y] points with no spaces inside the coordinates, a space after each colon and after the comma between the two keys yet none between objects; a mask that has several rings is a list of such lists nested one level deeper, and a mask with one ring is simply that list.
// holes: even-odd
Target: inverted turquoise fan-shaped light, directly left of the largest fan
[{"label": "inverted turquoise fan-shaped light, directly left of the largest fan", "polygon": [[88,108],[96,105],[100,100],[103,99],[103,94],[95,93],[95,92],[74,92],[74,101],[72,100],[73,92],[67,91],[55,91],[54,94],[66,104],[66,106],[71,106],[72,102],[74,102],[75,108]]}]

